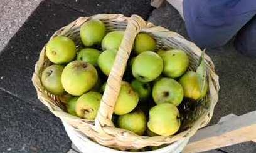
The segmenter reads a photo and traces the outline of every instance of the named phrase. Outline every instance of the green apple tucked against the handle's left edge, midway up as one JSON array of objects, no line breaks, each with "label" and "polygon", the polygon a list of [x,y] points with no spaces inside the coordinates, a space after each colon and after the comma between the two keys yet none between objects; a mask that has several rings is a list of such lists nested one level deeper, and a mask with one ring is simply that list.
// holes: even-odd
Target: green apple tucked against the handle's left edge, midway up
[{"label": "green apple tucked against the handle's left edge, midway up", "polygon": [[98,66],[100,70],[107,76],[109,76],[112,66],[115,61],[115,52],[106,50],[102,52],[98,58]]}]

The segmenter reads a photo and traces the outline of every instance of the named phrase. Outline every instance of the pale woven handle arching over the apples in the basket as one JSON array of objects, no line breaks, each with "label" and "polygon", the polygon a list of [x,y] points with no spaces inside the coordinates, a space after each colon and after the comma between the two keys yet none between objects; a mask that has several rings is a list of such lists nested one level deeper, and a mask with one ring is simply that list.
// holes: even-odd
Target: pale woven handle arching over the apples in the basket
[{"label": "pale woven handle arching over the apples in the basket", "polygon": [[128,20],[124,38],[115,57],[114,65],[112,66],[102,100],[100,101],[99,111],[95,119],[97,131],[100,131],[104,126],[114,126],[111,118],[114,112],[115,102],[119,96],[125,66],[131,53],[134,39],[141,29],[146,27],[146,24],[146,21],[136,15],[132,15]]}]

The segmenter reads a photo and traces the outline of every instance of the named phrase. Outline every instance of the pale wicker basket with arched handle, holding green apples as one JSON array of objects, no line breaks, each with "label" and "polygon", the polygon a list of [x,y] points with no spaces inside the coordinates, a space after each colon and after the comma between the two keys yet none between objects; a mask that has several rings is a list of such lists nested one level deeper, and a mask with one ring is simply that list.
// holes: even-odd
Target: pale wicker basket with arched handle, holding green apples
[{"label": "pale wicker basket with arched handle, holding green apples", "polygon": [[125,30],[124,39],[117,52],[114,66],[107,79],[107,86],[100,102],[100,108],[95,121],[80,119],[65,112],[65,104],[61,98],[47,92],[41,84],[41,72],[51,64],[45,54],[43,47],[40,57],[36,62],[35,72],[33,74],[33,84],[36,88],[38,98],[48,109],[60,117],[62,121],[70,124],[74,129],[79,130],[93,141],[107,147],[115,149],[140,149],[146,146],[160,146],[162,144],[171,144],[175,141],[193,136],[201,127],[206,126],[213,115],[213,109],[218,101],[218,76],[215,74],[214,64],[210,57],[205,55],[206,76],[209,84],[208,94],[205,98],[191,103],[183,102],[179,106],[183,119],[181,128],[174,136],[138,136],[131,131],[114,127],[111,121],[114,111],[115,101],[119,95],[120,82],[124,74],[127,59],[130,55],[132,44],[139,32],[150,34],[157,41],[157,48],[164,49],[182,49],[189,56],[189,69],[195,70],[198,66],[198,59],[201,56],[201,50],[192,42],[187,41],[182,36],[168,29],[144,21],[141,17],[133,15],[125,17],[122,14],[98,14],[91,17],[80,17],[76,21],[68,24],[56,31],[53,37],[63,35],[73,39],[79,47],[80,26],[83,22],[90,19],[100,19],[104,22],[107,31]]}]

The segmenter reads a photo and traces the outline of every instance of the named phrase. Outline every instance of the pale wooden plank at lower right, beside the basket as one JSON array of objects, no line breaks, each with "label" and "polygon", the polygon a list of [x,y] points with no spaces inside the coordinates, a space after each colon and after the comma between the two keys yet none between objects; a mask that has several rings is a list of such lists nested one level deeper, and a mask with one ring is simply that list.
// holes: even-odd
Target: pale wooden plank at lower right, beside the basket
[{"label": "pale wooden plank at lower right, beside the basket", "polygon": [[256,139],[256,111],[205,127],[191,137],[183,152],[202,152]]}]

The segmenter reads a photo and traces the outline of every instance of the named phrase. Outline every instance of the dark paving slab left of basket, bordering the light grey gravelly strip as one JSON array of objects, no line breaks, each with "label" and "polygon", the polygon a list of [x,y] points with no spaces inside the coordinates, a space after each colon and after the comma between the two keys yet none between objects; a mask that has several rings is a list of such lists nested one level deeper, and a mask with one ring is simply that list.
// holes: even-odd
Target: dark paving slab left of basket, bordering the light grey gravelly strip
[{"label": "dark paving slab left of basket, bordering the light grey gravelly strip", "polygon": [[31,82],[35,62],[53,32],[79,16],[82,13],[61,4],[42,2],[0,54],[0,89],[46,108]]}]

